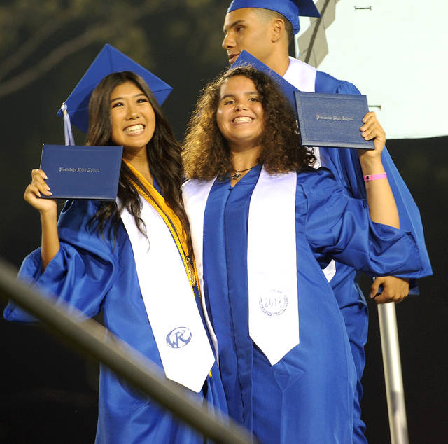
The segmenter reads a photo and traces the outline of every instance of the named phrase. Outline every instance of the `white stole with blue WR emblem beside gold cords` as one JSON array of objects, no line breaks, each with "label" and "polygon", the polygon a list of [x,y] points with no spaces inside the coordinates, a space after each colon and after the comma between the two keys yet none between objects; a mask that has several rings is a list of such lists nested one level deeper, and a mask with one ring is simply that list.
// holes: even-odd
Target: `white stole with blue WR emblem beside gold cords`
[{"label": "white stole with blue WR emblem beside gold cords", "polygon": [[127,209],[121,218],[132,244],[148,320],[167,378],[199,392],[214,354],[172,234],[160,214],[140,198],[148,239]]}]

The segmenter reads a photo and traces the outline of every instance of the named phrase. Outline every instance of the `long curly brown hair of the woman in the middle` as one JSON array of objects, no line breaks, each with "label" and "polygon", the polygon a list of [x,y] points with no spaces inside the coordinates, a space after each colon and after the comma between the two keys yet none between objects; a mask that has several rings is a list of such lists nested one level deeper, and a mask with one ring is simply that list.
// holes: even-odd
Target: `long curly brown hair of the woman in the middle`
[{"label": "long curly brown hair of the woman in the middle", "polygon": [[258,162],[269,174],[298,171],[313,165],[316,158],[300,144],[295,114],[279,87],[262,71],[243,66],[228,69],[202,90],[183,144],[186,177],[210,180],[232,172],[228,142],[216,123],[216,111],[223,83],[234,76],[250,78],[260,95],[265,121]]}]

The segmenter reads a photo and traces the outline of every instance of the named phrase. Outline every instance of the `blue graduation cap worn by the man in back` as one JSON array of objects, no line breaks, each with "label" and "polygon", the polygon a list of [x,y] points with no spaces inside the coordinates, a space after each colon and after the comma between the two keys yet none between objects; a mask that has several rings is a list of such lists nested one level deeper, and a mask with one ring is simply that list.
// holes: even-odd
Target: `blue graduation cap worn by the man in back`
[{"label": "blue graduation cap worn by the man in back", "polygon": [[300,29],[299,15],[321,17],[313,0],[233,0],[227,12],[241,8],[262,8],[281,13],[293,25],[294,34],[297,34]]}]

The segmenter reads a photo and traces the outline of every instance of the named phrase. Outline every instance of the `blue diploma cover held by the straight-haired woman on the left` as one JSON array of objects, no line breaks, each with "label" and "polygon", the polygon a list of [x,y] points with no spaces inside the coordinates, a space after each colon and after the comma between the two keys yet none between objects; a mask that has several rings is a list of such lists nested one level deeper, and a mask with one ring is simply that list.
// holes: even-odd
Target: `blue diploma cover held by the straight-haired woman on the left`
[{"label": "blue diploma cover held by the straight-haired woman on the left", "polygon": [[[116,200],[123,146],[42,146],[50,199]],[[42,196],[46,197],[46,196]]]}]

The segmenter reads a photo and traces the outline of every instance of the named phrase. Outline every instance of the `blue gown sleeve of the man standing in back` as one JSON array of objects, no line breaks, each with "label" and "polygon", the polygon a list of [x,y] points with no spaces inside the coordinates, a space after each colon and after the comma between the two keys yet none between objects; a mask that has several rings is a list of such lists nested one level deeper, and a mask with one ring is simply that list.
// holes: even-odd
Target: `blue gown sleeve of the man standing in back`
[{"label": "blue gown sleeve of the man standing in back", "polygon": [[[316,80],[316,91],[332,92],[337,94],[360,94],[358,88],[352,83],[338,81],[328,74],[319,71]],[[356,199],[365,199],[365,186],[363,183],[363,173],[360,167],[358,153],[350,149],[320,148],[322,165],[328,167],[335,174],[336,179],[346,188],[349,195]],[[419,278],[433,274],[430,265],[428,251],[426,249],[425,238],[421,216],[414,199],[403,181],[398,169],[395,167],[391,155],[387,148],[381,153],[381,161],[387,173],[388,181],[391,185],[395,202],[400,215],[400,226],[402,230],[409,231],[414,236],[419,247],[422,266],[418,272],[402,277]]]}]

